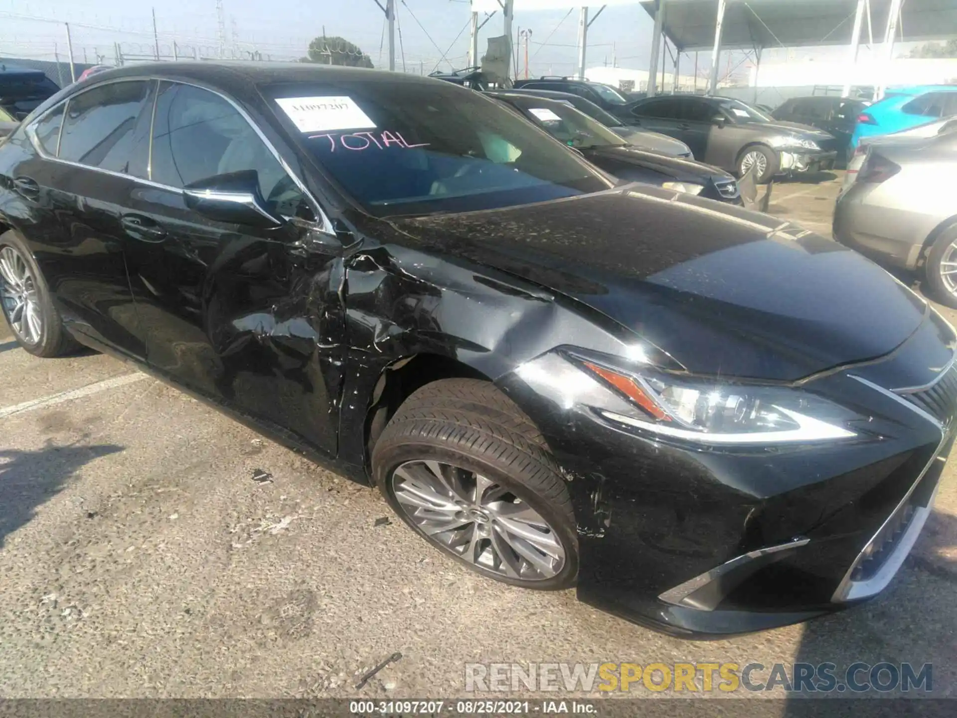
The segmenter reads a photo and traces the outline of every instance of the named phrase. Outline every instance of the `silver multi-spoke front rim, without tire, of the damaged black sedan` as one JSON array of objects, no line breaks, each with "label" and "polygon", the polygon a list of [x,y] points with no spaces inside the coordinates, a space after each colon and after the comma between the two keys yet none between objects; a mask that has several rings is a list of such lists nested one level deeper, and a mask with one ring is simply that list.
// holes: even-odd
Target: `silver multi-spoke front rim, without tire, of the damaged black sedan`
[{"label": "silver multi-spoke front rim, without tire, of the damaged black sedan", "polygon": [[542,515],[481,474],[440,461],[406,461],[391,482],[414,527],[480,570],[533,582],[565,566],[565,549]]}]

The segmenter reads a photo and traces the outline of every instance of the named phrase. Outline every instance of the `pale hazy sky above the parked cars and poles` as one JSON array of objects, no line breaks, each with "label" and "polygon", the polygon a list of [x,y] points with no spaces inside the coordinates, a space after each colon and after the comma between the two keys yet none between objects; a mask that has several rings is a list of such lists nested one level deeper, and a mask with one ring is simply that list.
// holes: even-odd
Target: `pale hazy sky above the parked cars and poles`
[{"label": "pale hazy sky above the parked cars and poles", "polygon": [[[381,0],[385,3],[385,0]],[[600,6],[600,0],[595,0]],[[258,51],[272,59],[295,59],[305,55],[309,41],[324,33],[341,35],[356,43],[375,66],[388,65],[384,41],[385,18],[375,0],[223,0],[226,13],[226,45],[242,56]],[[429,74],[466,64],[470,5],[468,0],[397,0],[397,69]],[[218,47],[215,0],[162,0],[156,12],[161,55],[171,55],[175,39],[183,52],[197,48],[214,56]],[[594,13],[595,9],[592,9]],[[578,9],[571,11],[517,11],[513,30],[531,31],[529,71],[532,76],[571,75],[577,64]],[[152,56],[154,52],[151,8],[128,0],[0,0],[0,56],[61,59],[67,55],[64,22],[71,24],[71,39],[77,61],[95,62],[102,56],[113,63],[114,43],[125,56]],[[647,69],[651,52],[652,20],[639,6],[611,7],[597,17],[589,30],[588,65],[611,64]],[[479,54],[486,39],[501,34],[501,13],[492,17],[479,34]],[[904,48],[901,48],[903,50]],[[807,56],[834,56],[844,48],[767,51],[764,61],[782,61]],[[699,67],[704,77],[709,53],[701,53]],[[445,59],[443,59],[445,56]],[[523,50],[520,52],[523,58]],[[743,53],[725,54],[723,68],[738,67],[744,73],[748,62]],[[685,57],[682,73],[694,61]],[[665,63],[670,71],[672,63]],[[520,69],[521,65],[520,65]]]}]

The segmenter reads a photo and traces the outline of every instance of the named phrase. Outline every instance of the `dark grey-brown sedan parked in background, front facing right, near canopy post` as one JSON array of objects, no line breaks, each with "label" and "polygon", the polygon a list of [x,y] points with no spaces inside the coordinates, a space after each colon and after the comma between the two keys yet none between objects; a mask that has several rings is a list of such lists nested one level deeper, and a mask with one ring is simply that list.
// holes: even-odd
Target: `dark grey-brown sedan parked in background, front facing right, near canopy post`
[{"label": "dark grey-brown sedan parked in background, front facing right, near canopy post", "polygon": [[740,100],[665,95],[635,102],[629,111],[645,129],[691,147],[695,159],[758,182],[778,173],[830,169],[838,141],[803,124],[776,122]]}]

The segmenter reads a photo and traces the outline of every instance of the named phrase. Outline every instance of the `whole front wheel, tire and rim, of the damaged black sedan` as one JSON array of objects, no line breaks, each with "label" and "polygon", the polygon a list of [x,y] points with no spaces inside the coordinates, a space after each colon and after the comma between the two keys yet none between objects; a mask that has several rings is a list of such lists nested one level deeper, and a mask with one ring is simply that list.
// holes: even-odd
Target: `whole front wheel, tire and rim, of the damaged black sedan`
[{"label": "whole front wheel, tire and rim, of the damaged black sedan", "polygon": [[372,452],[392,509],[469,568],[523,588],[568,588],[575,520],[531,420],[489,382],[442,379],[403,402]]}]

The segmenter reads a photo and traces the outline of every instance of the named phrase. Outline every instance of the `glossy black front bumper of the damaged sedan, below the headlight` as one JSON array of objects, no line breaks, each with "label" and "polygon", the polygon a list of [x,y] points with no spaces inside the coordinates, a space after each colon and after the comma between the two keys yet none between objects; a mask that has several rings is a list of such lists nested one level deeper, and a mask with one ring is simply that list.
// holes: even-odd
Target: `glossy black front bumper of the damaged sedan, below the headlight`
[{"label": "glossy black front bumper of the damaged sedan, below the headlight", "polygon": [[[934,407],[946,405],[939,415],[918,394],[883,387],[920,383],[914,366],[923,354],[925,370],[928,346],[944,348],[938,339],[948,333],[934,318],[908,343],[913,351],[905,345],[885,362],[805,386],[870,414],[848,441],[694,445],[640,436],[539,394],[524,408],[568,479],[579,598],[701,639],[799,622],[879,593],[929,514],[953,441],[957,369],[946,396],[933,397]],[[511,381],[519,380],[503,382],[509,393]]]}]

